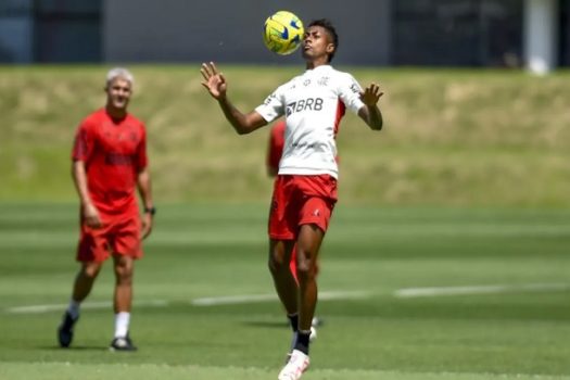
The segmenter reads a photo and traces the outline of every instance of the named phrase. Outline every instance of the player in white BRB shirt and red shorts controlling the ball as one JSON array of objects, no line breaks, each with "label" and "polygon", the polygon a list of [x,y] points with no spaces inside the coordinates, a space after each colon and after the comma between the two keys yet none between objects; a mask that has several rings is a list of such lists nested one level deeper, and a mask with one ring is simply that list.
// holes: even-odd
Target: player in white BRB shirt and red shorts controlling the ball
[{"label": "player in white BRB shirt and red shorts controlling the ball", "polygon": [[[284,149],[268,228],[269,270],[296,330],[289,360],[278,376],[281,380],[300,379],[309,365],[318,252],[337,202],[334,139],[340,118],[349,107],[371,129],[382,128],[377,103],[383,92],[376,84],[362,90],[352,75],[330,65],[338,46],[337,31],[329,21],[312,22],[302,42],[306,71],[278,87],[249,113],[242,113],[230,102],[226,77],[213,62],[203,63],[201,68],[202,85],[238,134],[250,134],[286,116]],[[299,284],[289,269],[293,248],[296,248]]]}]

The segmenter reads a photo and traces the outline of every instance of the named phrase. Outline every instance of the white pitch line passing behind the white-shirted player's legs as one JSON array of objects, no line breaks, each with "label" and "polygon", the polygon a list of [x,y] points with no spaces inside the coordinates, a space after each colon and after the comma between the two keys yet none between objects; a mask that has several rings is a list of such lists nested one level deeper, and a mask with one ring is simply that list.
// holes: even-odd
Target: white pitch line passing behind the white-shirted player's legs
[{"label": "white pitch line passing behind the white-shirted player's legs", "polygon": [[[370,296],[369,292],[321,292],[318,295],[319,301],[330,300],[355,300]],[[190,302],[193,306],[216,306],[216,305],[238,305],[246,303],[257,303],[277,301],[276,294],[249,294],[249,295],[230,295],[195,299]]]}]

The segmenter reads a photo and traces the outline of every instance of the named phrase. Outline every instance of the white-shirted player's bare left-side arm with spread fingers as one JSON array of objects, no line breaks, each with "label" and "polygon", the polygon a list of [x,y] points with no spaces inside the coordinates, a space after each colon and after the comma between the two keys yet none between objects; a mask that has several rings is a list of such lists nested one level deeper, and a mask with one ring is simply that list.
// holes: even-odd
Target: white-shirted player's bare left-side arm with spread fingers
[{"label": "white-shirted player's bare left-side arm with spread fingers", "polygon": [[257,112],[253,111],[248,114],[240,112],[231,104],[227,97],[227,83],[214,62],[203,63],[200,69],[204,81],[202,86],[210,92],[212,98],[218,101],[228,122],[239,135],[251,134],[257,128],[267,125],[267,122]]}]

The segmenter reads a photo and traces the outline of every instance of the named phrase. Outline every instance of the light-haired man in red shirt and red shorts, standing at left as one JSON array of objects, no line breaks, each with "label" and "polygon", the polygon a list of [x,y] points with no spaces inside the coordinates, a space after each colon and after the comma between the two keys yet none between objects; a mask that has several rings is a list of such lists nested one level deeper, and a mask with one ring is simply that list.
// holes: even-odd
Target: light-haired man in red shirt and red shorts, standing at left
[{"label": "light-haired man in red shirt and red shorts, standing at left", "polygon": [[[103,262],[113,257],[115,273],[115,334],[110,350],[135,351],[129,338],[135,259],[142,256],[141,240],[152,230],[155,208],[147,159],[144,125],[127,112],[134,78],[125,68],[106,76],[106,104],[77,128],[72,174],[80,201],[79,271],[72,299],[58,328],[62,347],[68,347]],[[143,213],[140,216],[136,190]]]}]

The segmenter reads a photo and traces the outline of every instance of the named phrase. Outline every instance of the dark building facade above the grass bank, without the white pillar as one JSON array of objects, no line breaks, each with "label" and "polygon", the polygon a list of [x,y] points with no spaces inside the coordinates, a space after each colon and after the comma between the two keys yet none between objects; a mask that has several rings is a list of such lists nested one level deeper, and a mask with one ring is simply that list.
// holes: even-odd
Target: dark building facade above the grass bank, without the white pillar
[{"label": "dark building facade above the grass bank, without the white pillar", "polygon": [[[570,65],[570,0],[556,52]],[[524,0],[1,0],[0,62],[297,63],[263,47],[277,10],[337,25],[335,63],[524,66]],[[528,16],[528,14],[527,14]],[[558,24],[558,23],[557,23]]]}]

